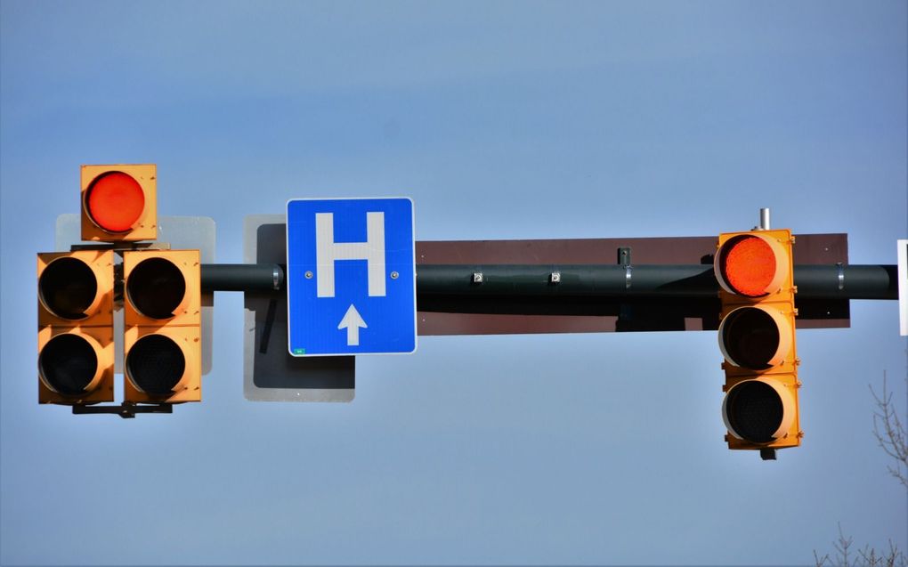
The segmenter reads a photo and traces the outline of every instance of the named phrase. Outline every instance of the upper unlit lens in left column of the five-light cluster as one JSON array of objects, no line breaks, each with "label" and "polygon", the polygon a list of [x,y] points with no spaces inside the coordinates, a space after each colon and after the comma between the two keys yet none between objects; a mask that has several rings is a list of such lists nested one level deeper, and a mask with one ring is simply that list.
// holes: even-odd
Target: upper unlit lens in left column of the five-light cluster
[{"label": "upper unlit lens in left column of the five-light cluster", "polygon": [[64,319],[82,319],[98,293],[94,271],[84,261],[58,258],[41,272],[38,293],[44,307]]}]

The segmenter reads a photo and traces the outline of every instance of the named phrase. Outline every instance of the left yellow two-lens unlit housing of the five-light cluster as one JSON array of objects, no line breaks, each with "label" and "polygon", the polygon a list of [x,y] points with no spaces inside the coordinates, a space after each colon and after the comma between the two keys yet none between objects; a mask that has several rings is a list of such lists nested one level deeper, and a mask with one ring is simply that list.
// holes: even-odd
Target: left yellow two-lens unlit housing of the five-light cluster
[{"label": "left yellow two-lens unlit housing of the five-light cluster", "polygon": [[38,402],[114,401],[114,252],[38,254]]}]

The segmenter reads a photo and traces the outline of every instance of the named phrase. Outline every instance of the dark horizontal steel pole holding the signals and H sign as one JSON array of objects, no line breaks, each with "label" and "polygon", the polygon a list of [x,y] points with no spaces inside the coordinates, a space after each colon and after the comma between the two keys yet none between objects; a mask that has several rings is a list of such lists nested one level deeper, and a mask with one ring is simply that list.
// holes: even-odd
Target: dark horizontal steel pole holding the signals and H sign
[{"label": "dark horizontal steel pole holding the signals and H sign", "polygon": [[[417,265],[417,295],[471,297],[715,297],[711,265]],[[801,298],[897,299],[894,265],[799,265]],[[203,264],[205,291],[274,291],[280,264]]]}]

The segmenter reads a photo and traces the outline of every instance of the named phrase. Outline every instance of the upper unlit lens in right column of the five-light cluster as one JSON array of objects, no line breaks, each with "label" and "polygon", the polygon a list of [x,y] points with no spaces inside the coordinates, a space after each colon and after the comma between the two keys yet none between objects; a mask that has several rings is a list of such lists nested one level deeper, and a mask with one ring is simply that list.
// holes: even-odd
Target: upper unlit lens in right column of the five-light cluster
[{"label": "upper unlit lens in right column of the five-light cluster", "polygon": [[173,262],[163,258],[144,259],[130,272],[126,294],[145,317],[172,318],[186,295],[186,279]]}]

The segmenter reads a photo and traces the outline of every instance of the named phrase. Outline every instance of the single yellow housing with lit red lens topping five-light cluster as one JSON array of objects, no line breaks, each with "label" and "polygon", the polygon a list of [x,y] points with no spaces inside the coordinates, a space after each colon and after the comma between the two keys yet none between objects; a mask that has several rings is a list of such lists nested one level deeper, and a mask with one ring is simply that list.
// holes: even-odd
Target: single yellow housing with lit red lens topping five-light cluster
[{"label": "single yellow housing with lit red lens topping five-light cluster", "polygon": [[82,166],[82,240],[157,239],[156,168]]}]

